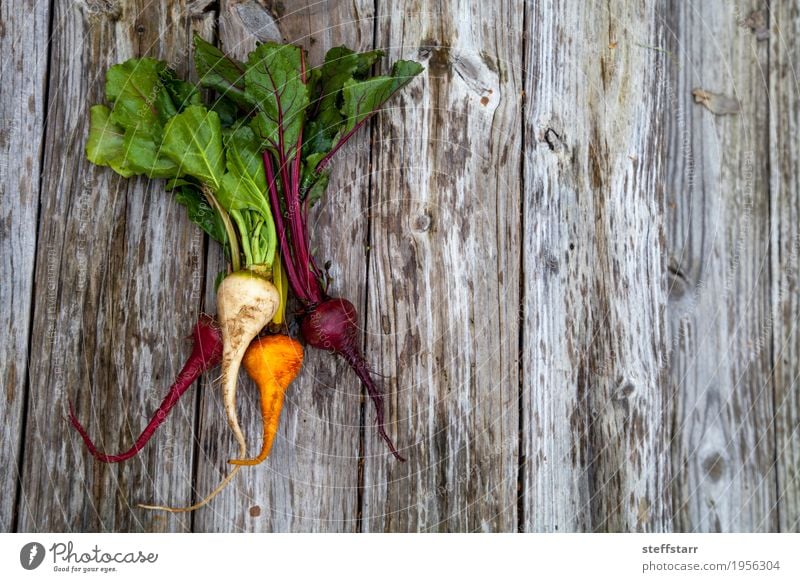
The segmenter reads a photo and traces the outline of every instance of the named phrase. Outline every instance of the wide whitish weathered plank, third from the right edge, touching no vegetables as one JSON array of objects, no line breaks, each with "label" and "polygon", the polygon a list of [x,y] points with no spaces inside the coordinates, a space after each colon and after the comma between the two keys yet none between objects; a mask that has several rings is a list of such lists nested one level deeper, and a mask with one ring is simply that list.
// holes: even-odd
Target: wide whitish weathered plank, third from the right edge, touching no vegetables
[{"label": "wide whitish weathered plank, third from the right edge, touching no vegetables", "polygon": [[527,531],[670,524],[656,5],[527,5]]}]

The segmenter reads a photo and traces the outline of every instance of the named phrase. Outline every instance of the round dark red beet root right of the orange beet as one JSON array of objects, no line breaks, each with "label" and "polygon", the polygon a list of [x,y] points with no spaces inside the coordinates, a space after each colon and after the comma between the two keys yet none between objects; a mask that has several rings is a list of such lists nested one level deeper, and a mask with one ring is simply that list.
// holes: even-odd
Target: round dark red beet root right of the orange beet
[{"label": "round dark red beet root right of the orange beet", "polygon": [[358,314],[353,304],[338,297],[326,299],[306,314],[300,323],[300,329],[311,347],[339,354],[350,365],[375,405],[378,433],[386,441],[392,454],[398,460],[405,461],[386,434],[383,395],[375,385],[369,366],[358,347]]}]

